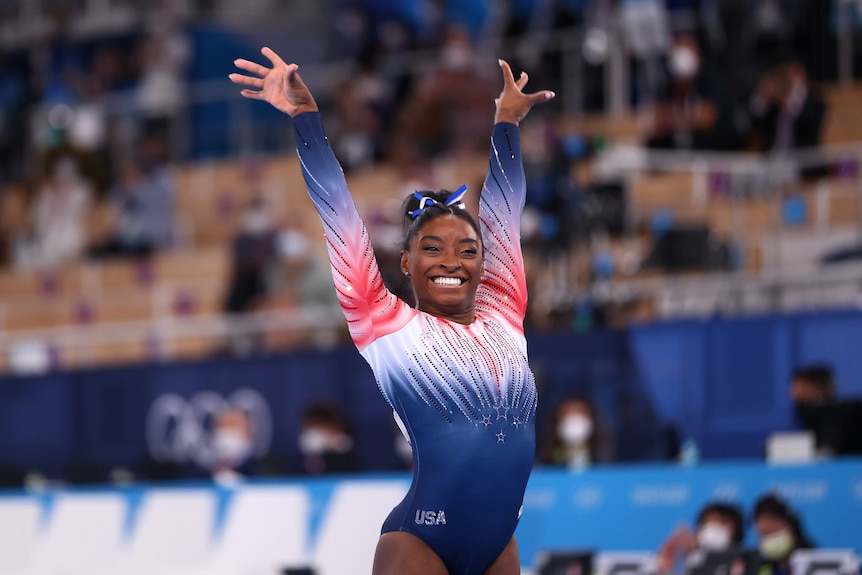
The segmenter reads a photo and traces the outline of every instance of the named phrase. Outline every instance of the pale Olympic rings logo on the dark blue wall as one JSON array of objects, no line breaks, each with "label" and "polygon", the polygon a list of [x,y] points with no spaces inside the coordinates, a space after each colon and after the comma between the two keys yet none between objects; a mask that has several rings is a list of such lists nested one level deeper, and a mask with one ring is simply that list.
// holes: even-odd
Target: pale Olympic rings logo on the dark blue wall
[{"label": "pale Olympic rings logo on the dark blue wall", "polygon": [[251,422],[252,453],[262,457],[272,441],[269,405],[257,391],[241,388],[224,398],[202,391],[183,399],[174,393],[160,395],[147,413],[147,448],[156,461],[194,462],[210,467],[215,461],[212,423],[223,411],[244,412]]}]

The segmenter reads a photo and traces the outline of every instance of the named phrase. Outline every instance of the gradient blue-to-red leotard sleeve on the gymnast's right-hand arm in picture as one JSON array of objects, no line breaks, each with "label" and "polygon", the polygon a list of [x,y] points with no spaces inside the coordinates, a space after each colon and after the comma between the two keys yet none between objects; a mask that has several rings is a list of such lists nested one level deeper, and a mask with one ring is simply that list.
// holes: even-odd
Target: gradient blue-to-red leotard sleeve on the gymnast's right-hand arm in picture
[{"label": "gradient blue-to-red leotard sleeve on the gymnast's right-hand arm in picture", "polygon": [[521,211],[527,195],[521,132],[506,122],[494,126],[488,175],[479,199],[485,273],[476,308],[505,317],[520,332],[527,313],[527,280],[521,252]]}]

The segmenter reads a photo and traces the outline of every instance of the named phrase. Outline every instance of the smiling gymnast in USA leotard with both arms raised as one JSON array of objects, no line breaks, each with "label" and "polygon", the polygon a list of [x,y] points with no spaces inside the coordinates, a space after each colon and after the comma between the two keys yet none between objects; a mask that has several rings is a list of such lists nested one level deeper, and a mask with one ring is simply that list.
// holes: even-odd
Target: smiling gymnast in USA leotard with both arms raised
[{"label": "smiling gymnast in USA leotard with both arms raised", "polygon": [[272,68],[237,60],[251,75],[231,80],[293,118],[351,337],[413,449],[413,482],[383,524],[373,573],[519,573],[514,532],[535,455],[536,386],[523,328],[518,122],[553,93],[523,93],[527,75],[516,81],[500,61],[503,90],[481,195],[462,187],[408,199],[401,269],[414,309],[383,284],[296,64],[268,48],[263,54]]}]

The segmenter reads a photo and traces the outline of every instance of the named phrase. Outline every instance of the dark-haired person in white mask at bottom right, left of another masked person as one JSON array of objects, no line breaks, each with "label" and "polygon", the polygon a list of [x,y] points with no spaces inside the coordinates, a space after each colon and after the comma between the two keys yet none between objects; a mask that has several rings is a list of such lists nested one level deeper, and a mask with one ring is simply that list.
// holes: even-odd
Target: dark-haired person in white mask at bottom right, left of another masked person
[{"label": "dark-haired person in white mask at bottom right, left of another masked person", "polygon": [[697,515],[695,529],[680,526],[662,543],[656,557],[658,573],[676,571],[675,567],[696,549],[728,551],[742,545],[745,538],[745,520],[742,511],[733,503],[713,501]]}]

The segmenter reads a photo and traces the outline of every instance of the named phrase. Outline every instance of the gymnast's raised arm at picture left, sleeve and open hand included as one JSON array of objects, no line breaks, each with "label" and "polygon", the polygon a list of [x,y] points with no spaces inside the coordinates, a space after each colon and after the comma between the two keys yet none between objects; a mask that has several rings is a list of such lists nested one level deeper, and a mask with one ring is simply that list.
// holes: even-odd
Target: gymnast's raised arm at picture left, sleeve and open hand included
[{"label": "gymnast's raised arm at picture left, sleeve and open hand included", "polygon": [[243,96],[269,102],[293,118],[297,154],[308,195],[323,222],[335,289],[353,342],[362,351],[381,332],[406,323],[410,308],[383,284],[368,231],[296,64],[285,64],[269,48],[262,53],[272,68],[237,60],[238,68],[259,77],[231,74],[230,79],[256,89],[244,89]]}]

